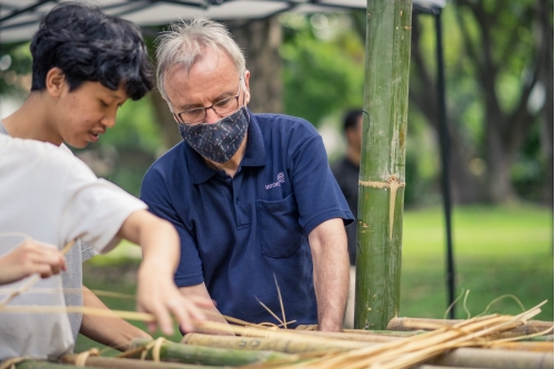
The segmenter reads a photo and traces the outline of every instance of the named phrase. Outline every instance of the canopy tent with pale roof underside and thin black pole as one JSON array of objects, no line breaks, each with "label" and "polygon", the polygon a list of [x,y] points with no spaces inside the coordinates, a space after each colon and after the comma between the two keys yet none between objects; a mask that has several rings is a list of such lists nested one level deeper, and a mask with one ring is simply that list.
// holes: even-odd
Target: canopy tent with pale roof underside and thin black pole
[{"label": "canopy tent with pale roof underside and thin black pole", "polygon": [[[40,19],[57,0],[0,0],[0,45],[29,40]],[[282,12],[326,12],[366,9],[366,0],[95,0],[104,12],[140,25],[162,25],[180,18],[208,17],[216,20],[263,19]],[[413,0],[415,14],[435,18],[437,60],[437,106],[442,155],[443,208],[446,233],[446,283],[448,305],[454,301],[454,260],[451,234],[451,194],[448,178],[448,131],[445,106],[442,8],[445,0]],[[454,318],[455,310],[450,311]]]}]

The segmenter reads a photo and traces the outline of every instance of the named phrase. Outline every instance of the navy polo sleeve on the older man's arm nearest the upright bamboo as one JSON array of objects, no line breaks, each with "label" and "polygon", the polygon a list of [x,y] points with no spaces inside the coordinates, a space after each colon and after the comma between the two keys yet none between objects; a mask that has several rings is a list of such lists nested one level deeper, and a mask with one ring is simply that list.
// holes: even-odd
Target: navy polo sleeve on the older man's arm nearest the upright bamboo
[{"label": "navy polo sleeve on the older man's arm nearest the upright bamboo", "polygon": [[322,137],[314,133],[293,147],[291,173],[304,233],[332,218],[351,224],[354,218],[330,168]]}]

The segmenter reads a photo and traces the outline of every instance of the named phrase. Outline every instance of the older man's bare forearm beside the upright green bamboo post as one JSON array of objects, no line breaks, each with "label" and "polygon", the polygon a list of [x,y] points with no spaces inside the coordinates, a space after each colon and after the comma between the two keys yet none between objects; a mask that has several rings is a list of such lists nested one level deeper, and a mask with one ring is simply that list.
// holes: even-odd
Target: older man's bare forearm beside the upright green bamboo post
[{"label": "older man's bare forearm beside the upright green bamboo post", "polygon": [[341,331],[349,294],[349,253],[343,219],[334,218],[309,235],[314,264],[319,329]]}]

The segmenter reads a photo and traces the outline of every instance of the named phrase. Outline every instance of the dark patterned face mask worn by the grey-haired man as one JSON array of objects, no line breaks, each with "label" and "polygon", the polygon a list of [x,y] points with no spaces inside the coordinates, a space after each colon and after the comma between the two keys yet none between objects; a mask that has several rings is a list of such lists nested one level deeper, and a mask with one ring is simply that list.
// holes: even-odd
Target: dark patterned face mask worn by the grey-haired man
[{"label": "dark patterned face mask worn by the grey-haired man", "polygon": [[203,157],[226,163],[238,152],[249,127],[249,113],[241,106],[235,113],[216,123],[179,123],[183,140]]}]

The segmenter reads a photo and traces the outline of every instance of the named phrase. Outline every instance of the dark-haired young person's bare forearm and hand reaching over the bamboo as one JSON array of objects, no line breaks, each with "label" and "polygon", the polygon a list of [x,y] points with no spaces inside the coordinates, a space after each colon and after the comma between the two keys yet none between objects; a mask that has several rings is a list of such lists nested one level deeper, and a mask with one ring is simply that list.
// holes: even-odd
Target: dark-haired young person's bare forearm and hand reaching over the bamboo
[{"label": "dark-haired young person's bare forearm and hand reaching over the bamboo", "polygon": [[[180,257],[180,240],[175,228],[147,211],[138,211],[123,222],[117,235],[142,248],[137,309],[153,314],[167,335],[173,332],[170,312],[184,330],[194,330],[192,319],[205,318],[199,307],[211,308],[213,304],[200,296],[185,298],[175,286],[173,274]],[[155,322],[149,322],[148,326],[150,331],[155,330]]]}]

